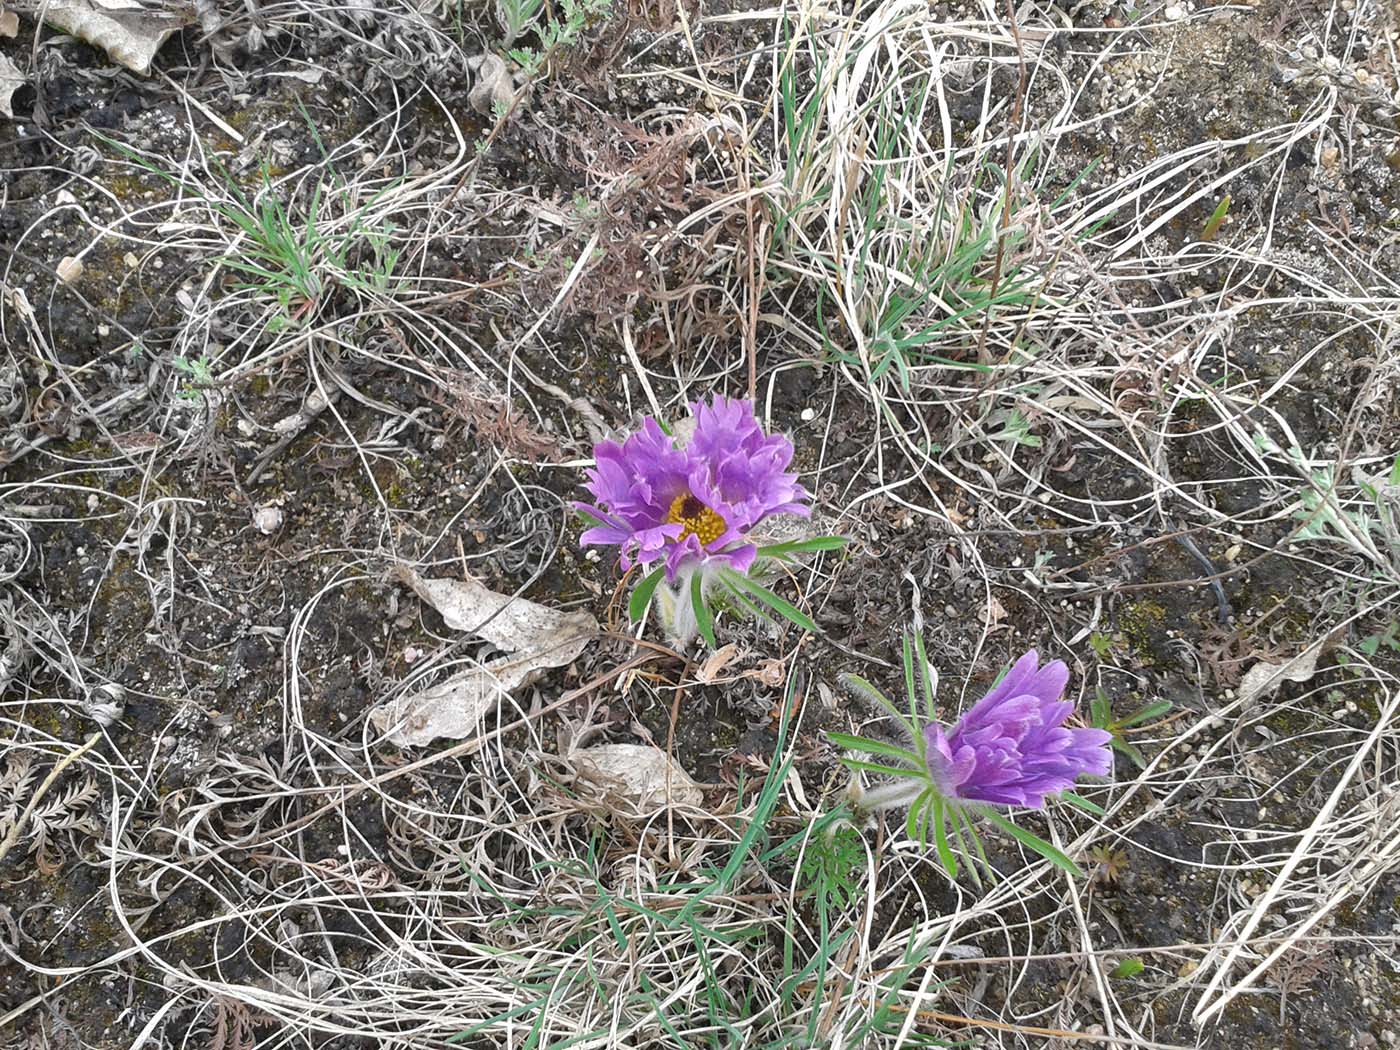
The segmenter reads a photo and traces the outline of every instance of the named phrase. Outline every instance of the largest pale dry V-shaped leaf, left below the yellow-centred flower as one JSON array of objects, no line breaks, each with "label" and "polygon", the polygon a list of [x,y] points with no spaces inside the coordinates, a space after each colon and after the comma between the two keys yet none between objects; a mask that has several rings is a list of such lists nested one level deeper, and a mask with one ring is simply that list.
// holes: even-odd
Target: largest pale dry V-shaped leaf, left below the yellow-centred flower
[{"label": "largest pale dry V-shaped leaf, left below the yellow-centred flower", "polygon": [[528,686],[549,668],[574,661],[598,636],[598,620],[584,612],[549,609],[497,594],[475,580],[428,580],[407,566],[398,566],[395,575],[437,609],[448,627],[511,654],[371,711],[371,724],[399,746],[470,736],[503,696]]}]

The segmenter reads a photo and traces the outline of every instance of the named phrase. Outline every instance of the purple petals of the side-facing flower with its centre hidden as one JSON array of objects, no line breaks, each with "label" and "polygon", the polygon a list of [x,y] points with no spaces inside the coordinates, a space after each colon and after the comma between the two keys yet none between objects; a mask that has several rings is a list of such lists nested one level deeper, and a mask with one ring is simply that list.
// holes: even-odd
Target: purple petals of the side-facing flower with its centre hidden
[{"label": "purple petals of the side-facing flower with its centre hidden", "polygon": [[1064,700],[1070,669],[1039,665],[1035,650],[1016,661],[951,734],[924,727],[928,771],[945,798],[1039,809],[1081,773],[1113,766],[1103,729],[1070,729],[1074,704]]}]

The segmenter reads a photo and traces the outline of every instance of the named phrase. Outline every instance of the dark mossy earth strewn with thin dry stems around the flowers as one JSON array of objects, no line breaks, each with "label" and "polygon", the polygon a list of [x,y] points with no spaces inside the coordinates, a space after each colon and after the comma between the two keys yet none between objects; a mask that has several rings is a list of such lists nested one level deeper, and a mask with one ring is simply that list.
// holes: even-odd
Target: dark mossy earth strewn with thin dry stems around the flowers
[{"label": "dark mossy earth strewn with thin dry stems around the flowers", "polygon": [[[1026,1030],[920,1019],[916,1032],[946,1044],[1096,1044],[1036,1033],[1082,1035],[1095,1023],[1103,1032],[1081,910],[1105,973],[1142,962],[1141,973],[1110,980],[1124,1016],[1155,1043],[1400,1046],[1394,850],[1364,895],[1345,895],[1218,1023],[1191,1022],[1210,946],[1231,944],[1376,727],[1397,687],[1400,644],[1385,641],[1387,630],[1394,638],[1396,588],[1358,556],[1301,536],[1277,479],[1246,462],[1203,403],[1173,403],[1169,363],[1095,379],[1144,433],[1166,435],[1151,452],[1156,477],[1134,438],[1110,430],[1086,440],[1089,430],[1064,423],[1068,407],[1029,419],[1036,441],[1014,449],[1015,462],[1033,463],[1039,483],[1026,483],[965,426],[965,409],[993,403],[986,389],[962,407],[896,398],[902,419],[917,417],[935,441],[946,473],[934,475],[886,437],[871,398],[833,357],[760,322],[760,417],[792,438],[820,529],[850,538],[815,573],[780,584],[823,633],[728,617],[720,641],[735,645],[734,657],[708,685],[696,678],[704,652],[636,644],[631,581],[609,553],[589,559],[578,547],[568,501],[581,494],[584,461],[601,427],[626,430],[647,412],[630,354],[679,419],[686,399],[742,396],[749,353],[725,286],[725,274],[752,263],[743,209],[706,225],[704,238],[666,242],[657,232],[721,200],[738,175],[732,155],[679,130],[685,113],[710,112],[700,80],[683,88],[655,70],[693,73],[699,60],[706,83],[729,85],[753,55],[766,66],[773,25],[745,18],[759,7],[743,3],[617,0],[500,118],[473,105],[480,77],[466,62],[500,45],[487,7],[378,17],[349,7],[283,21],[269,8],[260,24],[276,32],[253,49],[244,7],[221,4],[225,28],[176,32],[148,77],[52,29],[36,39],[24,8],[18,34],[0,39],[29,73],[14,120],[0,123],[0,610],[11,654],[0,679],[0,816],[8,805],[13,825],[55,763],[95,735],[45,795],[48,830],[21,827],[0,860],[3,1044],[130,1047],[144,1036],[146,1046],[437,1046],[462,1029],[419,1028],[407,1015],[399,1028],[298,1028],[228,991],[277,993],[267,974],[288,938],[314,935],[298,951],[333,956],[336,980],[371,973],[381,951],[414,935],[405,900],[470,889],[470,864],[441,846],[458,832],[431,813],[490,823],[496,802],[476,794],[484,750],[356,788],[448,748],[377,741],[368,711],[421,673],[424,654],[484,655],[398,581],[391,570],[409,563],[430,577],[469,573],[603,624],[577,661],[519,701],[528,713],[568,690],[578,699],[490,745],[490,762],[519,771],[496,788],[517,802],[567,794],[556,756],[570,727],[591,722],[601,739],[671,748],[704,785],[704,808],[729,819],[773,767],[787,706],[801,713],[790,746],[806,798],[815,809],[836,805],[850,774],[823,731],[889,732],[840,675],[899,694],[900,638],[914,623],[949,718],[1030,647],[1070,664],[1081,710],[1096,690],[1117,714],[1169,700],[1170,714],[1130,736],[1148,773],[1120,755],[1114,784],[1085,790],[1107,806],[1135,784],[1102,844],[1079,858],[1089,876],[1072,906],[1064,879],[1047,876],[1019,904],[972,920],[988,956],[1037,958],[937,974],[948,981],[932,1000],[938,1011]],[[969,17],[934,7],[939,21]],[[1028,32],[1064,29],[1047,46],[1091,84],[1078,102],[1086,112],[1117,105],[1124,85],[1155,84],[1149,105],[1061,141],[1047,175],[1058,189],[1098,160],[1074,188],[1081,195],[1198,143],[1306,120],[1317,78],[1333,78],[1341,101],[1331,130],[1299,134],[1277,162],[1246,168],[1229,183],[1229,221],[1203,241],[1243,244],[1252,225],[1270,223],[1268,251],[1298,260],[1306,277],[1253,288],[1271,305],[1231,314],[1214,339],[1200,337],[1214,323],[1204,305],[1193,316],[1168,304],[1240,287],[1239,258],[1191,256],[1204,262],[1183,262],[1175,276],[1119,272],[1114,294],[1154,330],[1179,319],[1205,379],[1246,374],[1263,389],[1287,377],[1256,421],[1281,419],[1303,449],[1352,462],[1400,451],[1400,141],[1396,14],[1347,7],[1352,29],[1323,32],[1341,11],[1266,0],[1203,6],[1180,25],[1158,11],[1156,28],[1103,63],[1100,34],[1141,11],[1081,3],[1021,18]],[[1366,34],[1371,50],[1347,43],[1348,32]],[[1369,66],[1354,62],[1358,53]],[[1355,69],[1368,76],[1358,81]],[[952,113],[958,133],[972,134],[984,88],[1016,90],[1015,66],[1002,71],[990,87],[952,84],[966,111]],[[1036,90],[1032,120],[1044,101]],[[762,105],[767,81],[755,77],[743,91]],[[773,127],[755,126],[748,146],[764,155]],[[1240,164],[1249,148],[1221,164]],[[1327,150],[1340,160],[1329,165]],[[316,179],[349,186],[433,171],[449,175],[391,217],[406,281],[392,294],[328,284],[314,300],[284,301],[283,314],[301,316],[270,325],[274,297],[211,269],[230,245],[210,235],[220,213],[196,186],[216,175],[252,195],[263,179],[307,172],[279,185],[288,206],[308,209]],[[1142,251],[1165,258],[1201,241],[1217,200],[1193,203]],[[1350,255],[1316,239],[1319,223]],[[344,266],[370,267],[375,251],[360,238]],[[81,276],[56,279],[60,260],[78,253]],[[811,288],[776,281],[763,316],[818,308]],[[1291,309],[1309,281],[1357,297],[1382,288],[1389,335],[1341,309]],[[834,325],[833,353],[850,350],[841,337]],[[942,353],[973,360],[972,346]],[[869,455],[882,441],[878,472]],[[918,480],[889,484],[906,477]],[[1161,477],[1173,480],[1165,497]],[[1357,647],[1372,638],[1373,666],[1358,666]],[[1247,669],[1310,647],[1320,647],[1313,673],[1236,703]],[[647,658],[643,671],[615,673],[637,657]],[[589,692],[601,676],[608,687]],[[501,724],[515,717],[504,713]],[[1397,739],[1392,725],[1366,767],[1375,790],[1348,788],[1338,809],[1372,813],[1378,840],[1386,822],[1400,834]],[[1389,809],[1366,809],[1362,795],[1389,798]],[[561,806],[550,819],[549,834],[596,841],[605,858],[665,839],[666,820],[606,806]],[[704,841],[699,816],[673,819]],[[808,819],[788,799],[764,833],[781,841]],[[1065,809],[1054,820],[1063,840],[1092,825]],[[1049,833],[1037,816],[1025,823]],[[893,850],[902,833],[897,816],[864,829],[876,851]],[[497,871],[515,872],[512,892],[543,878],[510,836],[477,841]],[[1007,878],[1026,864],[1014,843],[988,834],[987,846]],[[1289,909],[1305,914],[1309,893],[1330,892],[1347,848],[1303,862]],[[722,850],[704,864],[722,865]],[[750,872],[752,885],[785,890],[792,858],[767,864]],[[676,861],[668,876],[687,871]],[[921,900],[938,913],[980,896],[918,871]],[[328,879],[358,904],[318,906]],[[923,904],[883,888],[869,937],[914,923]],[[862,895],[830,923],[867,923]],[[1270,914],[1260,934],[1278,927]],[[1242,969],[1260,958],[1252,951]],[[500,1029],[465,1044],[532,1046],[526,1036]],[[655,1044],[678,1042],[658,1035]]]}]

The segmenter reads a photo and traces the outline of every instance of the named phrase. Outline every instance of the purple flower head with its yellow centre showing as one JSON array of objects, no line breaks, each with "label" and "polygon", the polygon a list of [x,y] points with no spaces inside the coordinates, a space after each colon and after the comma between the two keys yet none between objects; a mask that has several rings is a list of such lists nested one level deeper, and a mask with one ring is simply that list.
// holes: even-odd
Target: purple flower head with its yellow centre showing
[{"label": "purple flower head with its yellow centre showing", "polygon": [[620,445],[594,445],[585,487],[595,503],[574,504],[599,522],[584,546],[617,545],[623,568],[664,559],[669,582],[707,561],[746,571],[757,554],[749,529],[770,514],[811,514],[787,472],[792,442],[764,434],[749,402],[717,396],[690,410],[694,433],[682,447],[650,416]]}]

